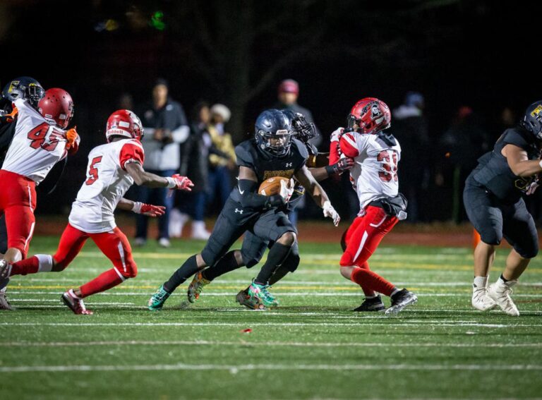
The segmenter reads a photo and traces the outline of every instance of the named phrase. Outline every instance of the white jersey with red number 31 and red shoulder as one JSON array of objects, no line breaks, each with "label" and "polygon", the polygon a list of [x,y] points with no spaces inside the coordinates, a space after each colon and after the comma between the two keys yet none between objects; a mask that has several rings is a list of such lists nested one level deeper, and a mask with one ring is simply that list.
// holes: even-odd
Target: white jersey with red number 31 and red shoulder
[{"label": "white jersey with red number 31 and red shoulder", "polygon": [[340,141],[343,156],[354,159],[350,181],[359,198],[360,213],[381,198],[394,198],[399,193],[397,164],[401,146],[393,136],[350,132]]}]

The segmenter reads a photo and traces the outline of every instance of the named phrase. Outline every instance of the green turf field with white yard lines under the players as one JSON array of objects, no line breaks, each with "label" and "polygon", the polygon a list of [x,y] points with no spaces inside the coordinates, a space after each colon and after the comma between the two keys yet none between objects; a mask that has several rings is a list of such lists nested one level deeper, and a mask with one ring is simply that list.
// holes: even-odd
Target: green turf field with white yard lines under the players
[{"label": "green turf field with white yard lines under the players", "polygon": [[[34,238],[31,253],[51,253],[56,243]],[[0,399],[542,396],[539,260],[514,293],[517,318],[471,309],[467,248],[383,246],[371,267],[415,291],[418,304],[395,318],[351,313],[361,290],[339,275],[338,246],[321,243],[301,243],[298,272],[272,289],[282,302],[276,310],[239,308],[234,295],[255,274],[240,269],[190,308],[181,309],[185,284],[152,313],[150,294],[203,242],[153,246],[135,250],[137,278],[88,298],[92,316],[59,302],[110,267],[92,243],[61,274],[13,279],[18,310],[0,313]],[[499,267],[504,257],[501,250]]]}]

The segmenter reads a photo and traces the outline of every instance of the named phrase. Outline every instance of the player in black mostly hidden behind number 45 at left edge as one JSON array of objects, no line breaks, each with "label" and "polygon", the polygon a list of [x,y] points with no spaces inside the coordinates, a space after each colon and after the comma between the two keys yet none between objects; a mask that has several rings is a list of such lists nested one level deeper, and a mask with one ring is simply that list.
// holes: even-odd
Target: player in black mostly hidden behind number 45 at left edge
[{"label": "player in black mostly hidden behind number 45 at left edge", "polygon": [[[34,78],[29,76],[21,76],[10,80],[0,98],[0,167],[4,163],[4,157],[8,152],[8,147],[15,134],[15,126],[17,121],[17,109],[13,109],[11,103],[15,99],[29,99],[30,105],[37,109],[37,103],[40,102],[44,95],[44,88]],[[0,216],[0,257],[4,257],[4,253],[8,249],[8,231],[6,229],[6,219]],[[0,279],[0,310],[11,310],[12,307],[6,299],[6,286],[9,279]]]}]

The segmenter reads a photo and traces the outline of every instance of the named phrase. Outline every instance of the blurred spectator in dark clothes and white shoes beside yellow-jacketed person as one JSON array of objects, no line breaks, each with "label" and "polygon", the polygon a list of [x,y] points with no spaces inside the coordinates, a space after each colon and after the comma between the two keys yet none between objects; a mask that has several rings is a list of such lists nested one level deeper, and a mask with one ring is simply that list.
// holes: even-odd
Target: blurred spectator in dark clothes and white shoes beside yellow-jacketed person
[{"label": "blurred spectator in dark clothes and white shoes beside yellow-jacketed person", "polygon": [[183,226],[192,218],[192,234],[194,239],[207,240],[210,232],[205,229],[205,206],[209,191],[209,154],[212,140],[207,126],[211,121],[209,104],[199,102],[191,115],[190,136],[183,147],[181,156],[181,171],[185,176],[191,176],[194,188],[191,192],[177,196],[178,207],[171,211],[169,219],[169,236],[180,238]]}]

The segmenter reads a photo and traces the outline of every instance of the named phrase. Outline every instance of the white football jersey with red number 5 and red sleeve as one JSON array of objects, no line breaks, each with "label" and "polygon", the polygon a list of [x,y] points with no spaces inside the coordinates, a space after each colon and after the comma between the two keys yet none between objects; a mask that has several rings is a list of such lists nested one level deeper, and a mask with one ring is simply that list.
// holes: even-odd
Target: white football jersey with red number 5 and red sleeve
[{"label": "white football jersey with red number 5 and red sleeve", "polygon": [[114,210],[133,178],[125,166],[129,162],[143,165],[143,146],[135,139],[123,139],[95,147],[88,154],[87,178],[71,205],[71,225],[89,234],[115,228]]}]

